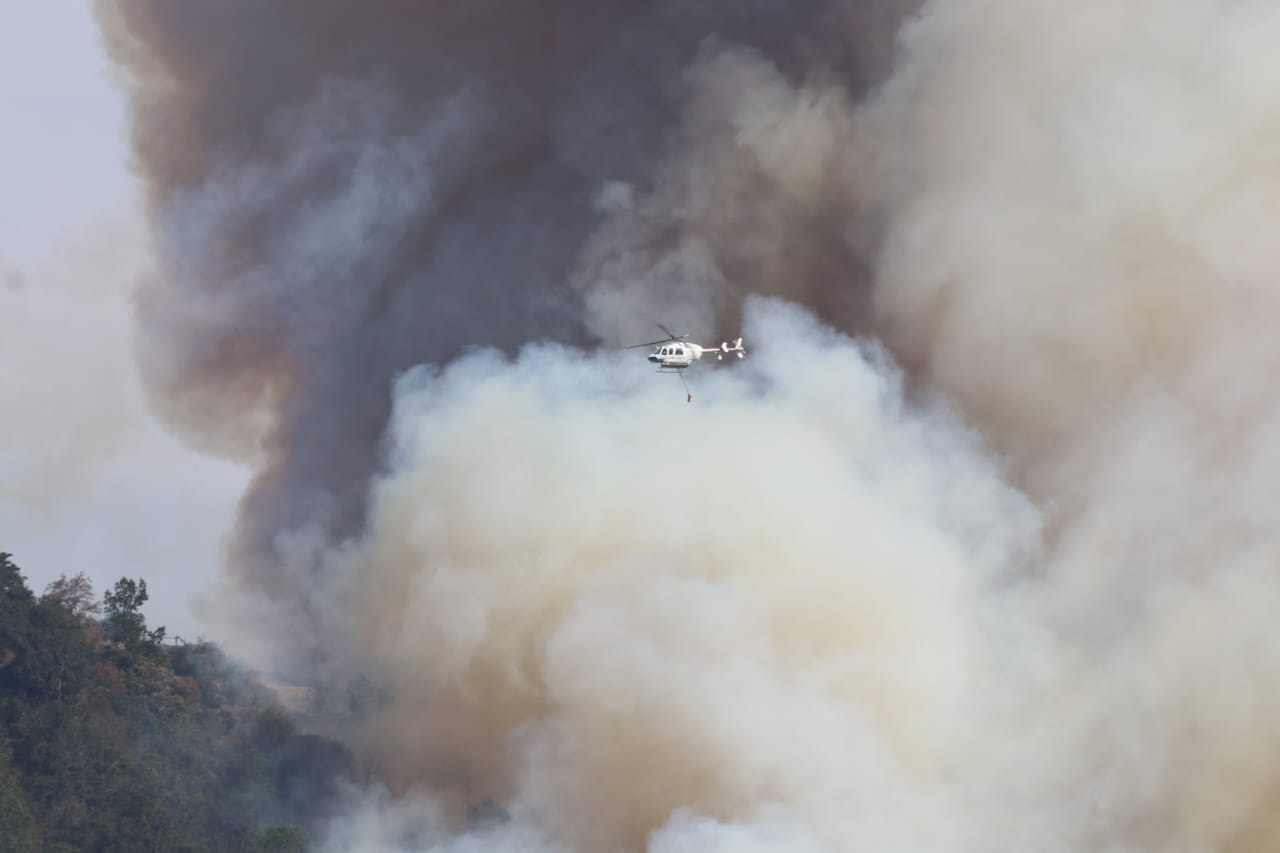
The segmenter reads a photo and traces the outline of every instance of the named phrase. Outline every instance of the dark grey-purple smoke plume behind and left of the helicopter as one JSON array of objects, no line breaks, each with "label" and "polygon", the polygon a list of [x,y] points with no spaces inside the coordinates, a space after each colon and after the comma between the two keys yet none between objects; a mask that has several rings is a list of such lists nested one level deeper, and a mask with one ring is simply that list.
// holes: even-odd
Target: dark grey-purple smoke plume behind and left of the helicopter
[{"label": "dark grey-purple smoke plume behind and left of the helicopter", "polygon": [[[708,325],[736,325],[750,291],[809,297],[847,325],[858,306],[831,284],[863,263],[818,207],[781,231],[768,206],[690,223],[671,215],[662,169],[699,120],[733,132],[714,105],[689,108],[733,85],[735,56],[782,85],[820,73],[858,92],[887,68],[905,5],[100,3],[160,257],[141,293],[147,386],[191,441],[257,470],[234,574],[305,603],[310,579],[282,567],[282,537],[360,529],[398,371],[684,321],[602,324],[584,292],[625,275],[672,292],[680,314],[682,286],[701,292],[680,263],[690,229],[713,255],[744,247],[714,272],[727,289],[698,318]],[[664,222],[643,236],[614,223],[588,245],[617,218],[611,192],[655,187]],[[762,229],[794,246],[786,269],[755,263],[772,250],[742,234]]]}]

